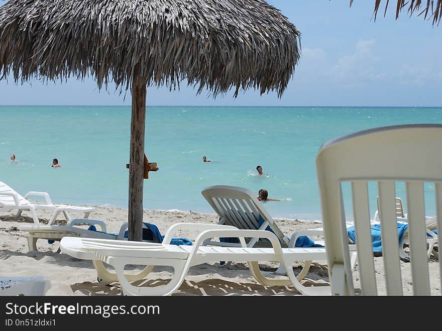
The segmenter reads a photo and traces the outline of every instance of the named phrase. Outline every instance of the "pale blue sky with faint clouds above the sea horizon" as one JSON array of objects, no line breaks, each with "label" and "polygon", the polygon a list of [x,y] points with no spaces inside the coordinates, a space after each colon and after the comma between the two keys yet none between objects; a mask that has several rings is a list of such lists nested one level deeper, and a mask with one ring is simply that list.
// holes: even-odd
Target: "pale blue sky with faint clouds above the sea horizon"
[{"label": "pale blue sky with faint clouds above the sea horizon", "polygon": [[[300,30],[302,55],[282,98],[250,90],[215,100],[181,84],[148,88],[148,105],[441,106],[442,24],[405,12],[372,19],[374,0],[269,0]],[[0,6],[5,1],[0,0]],[[130,93],[99,91],[92,79],[16,85],[0,81],[0,104],[130,105]]]}]

